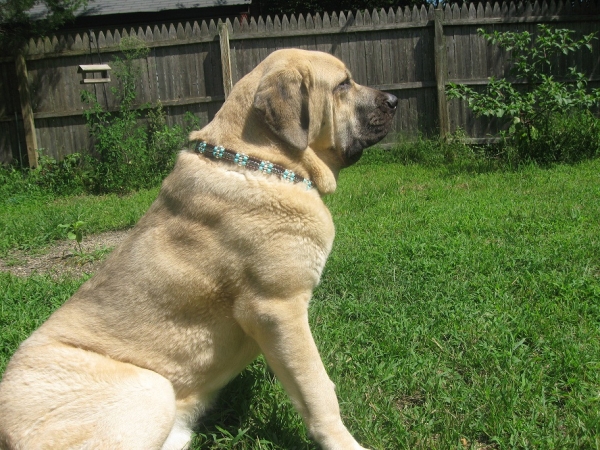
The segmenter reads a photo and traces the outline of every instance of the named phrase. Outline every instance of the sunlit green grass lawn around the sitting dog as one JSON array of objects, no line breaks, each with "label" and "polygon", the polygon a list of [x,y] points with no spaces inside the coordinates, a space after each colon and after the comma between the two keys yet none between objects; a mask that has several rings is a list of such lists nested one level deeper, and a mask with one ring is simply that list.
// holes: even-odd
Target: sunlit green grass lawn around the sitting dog
[{"label": "sunlit green grass lawn around the sitting dog", "polygon": [[[478,173],[380,156],[326,199],[337,236],[311,303],[348,428],[379,450],[599,449],[600,160]],[[30,238],[3,250],[76,216],[128,226],[155,195],[7,202],[0,230]],[[0,372],[83,281],[0,274]],[[258,360],[193,448],[315,447]]]}]

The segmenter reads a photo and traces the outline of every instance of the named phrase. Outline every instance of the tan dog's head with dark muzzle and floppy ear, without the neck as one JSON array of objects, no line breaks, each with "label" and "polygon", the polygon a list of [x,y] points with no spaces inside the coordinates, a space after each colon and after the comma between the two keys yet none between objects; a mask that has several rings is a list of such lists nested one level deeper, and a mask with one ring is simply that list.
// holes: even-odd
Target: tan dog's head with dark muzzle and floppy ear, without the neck
[{"label": "tan dog's head with dark muzzle and floppy ear, without the neck", "polygon": [[389,131],[398,99],[357,84],[334,56],[289,49],[262,64],[253,106],[291,148],[332,153],[328,159],[342,168]]}]

